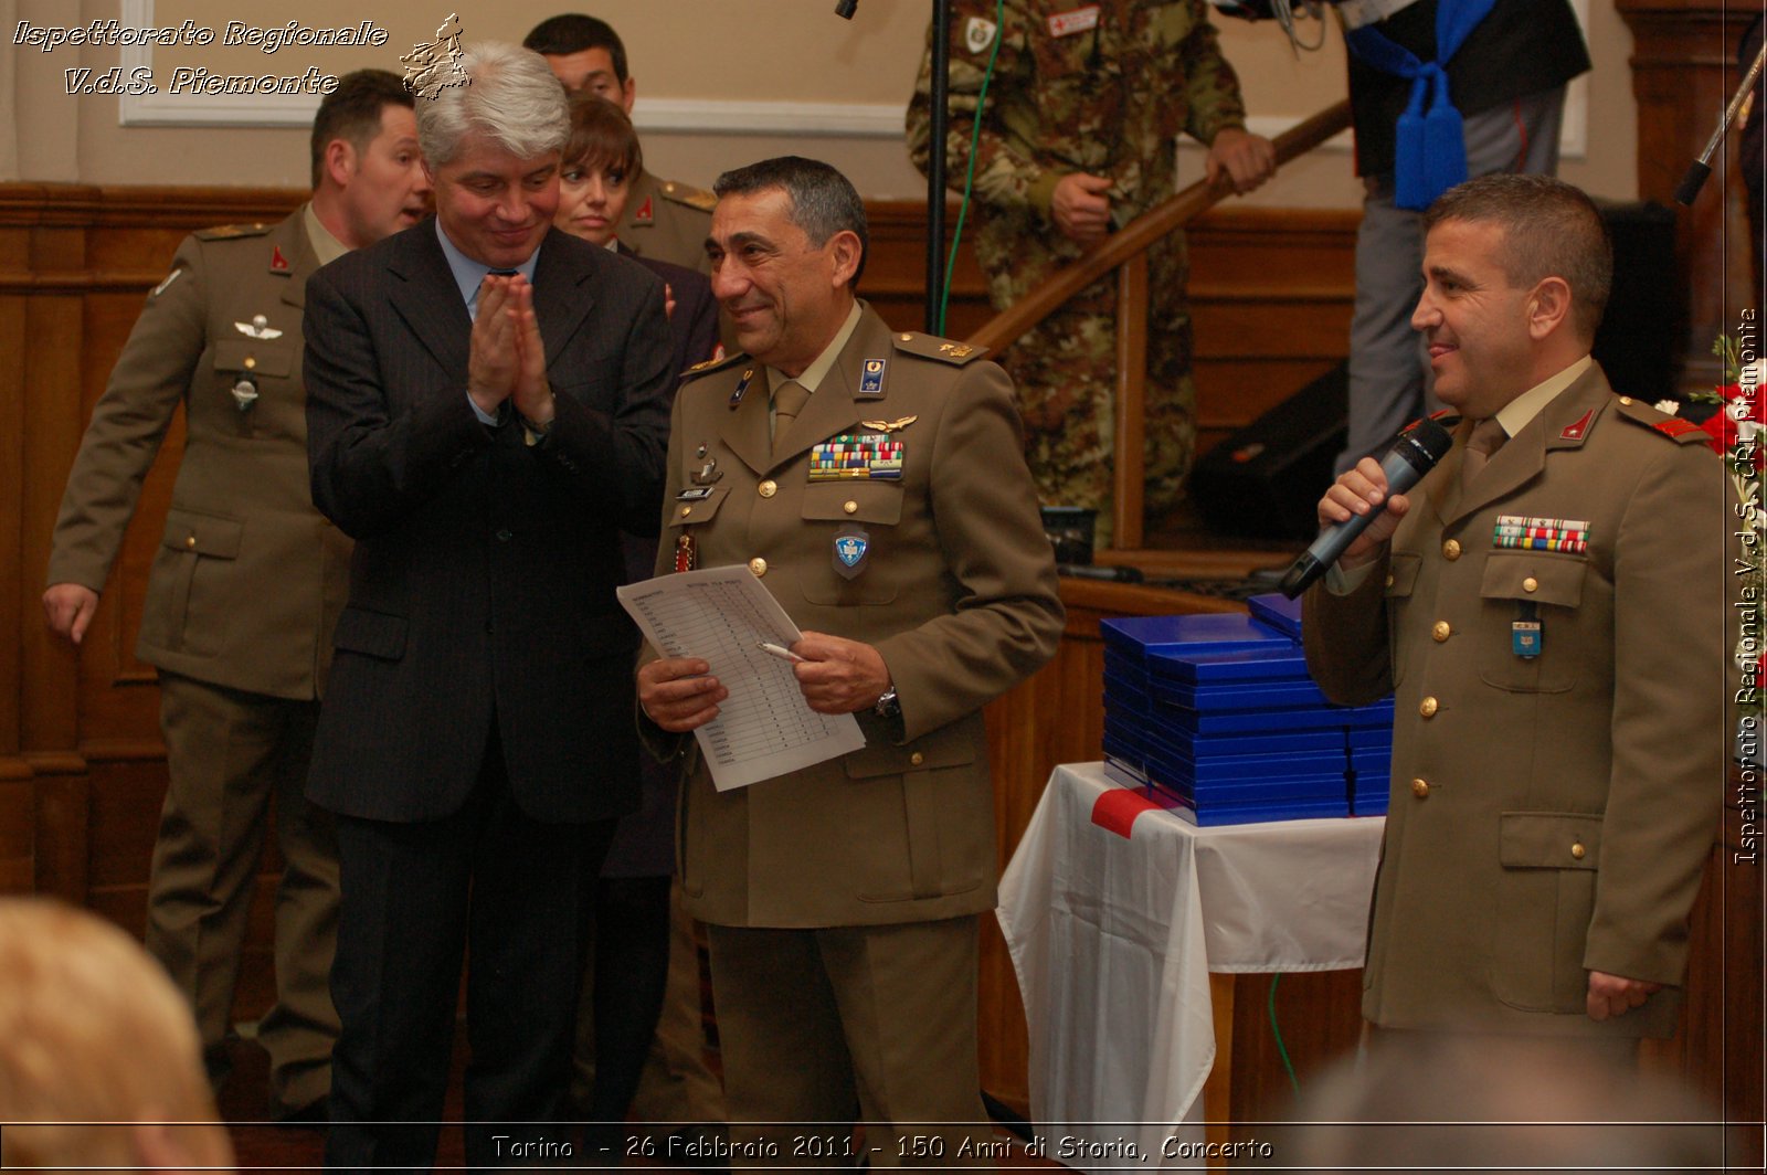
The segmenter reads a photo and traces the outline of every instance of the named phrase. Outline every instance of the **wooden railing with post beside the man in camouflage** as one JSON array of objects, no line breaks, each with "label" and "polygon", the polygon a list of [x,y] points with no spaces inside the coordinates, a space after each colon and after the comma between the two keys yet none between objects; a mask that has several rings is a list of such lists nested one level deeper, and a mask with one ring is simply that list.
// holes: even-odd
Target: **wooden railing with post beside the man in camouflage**
[{"label": "wooden railing with post beside the man in camouflage", "polygon": [[[1304,155],[1350,125],[1350,102],[1322,110],[1276,136],[1276,164]],[[997,352],[1053,315],[1067,299],[1117,270],[1117,435],[1113,440],[1111,548],[1141,546],[1143,436],[1147,394],[1147,249],[1233,194],[1221,175],[1191,184],[1172,200],[1113,233],[1097,249],[1043,283],[967,343]]]}]

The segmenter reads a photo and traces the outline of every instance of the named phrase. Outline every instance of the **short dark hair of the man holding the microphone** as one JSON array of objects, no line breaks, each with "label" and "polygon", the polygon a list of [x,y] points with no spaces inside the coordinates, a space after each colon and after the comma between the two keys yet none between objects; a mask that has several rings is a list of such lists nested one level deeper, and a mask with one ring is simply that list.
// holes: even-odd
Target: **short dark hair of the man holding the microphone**
[{"label": "short dark hair of the man holding the microphone", "polygon": [[1424,231],[1444,221],[1502,228],[1497,260],[1509,284],[1527,290],[1562,277],[1571,286],[1573,325],[1596,337],[1613,290],[1613,242],[1580,187],[1550,175],[1481,175],[1442,193],[1424,212]]}]

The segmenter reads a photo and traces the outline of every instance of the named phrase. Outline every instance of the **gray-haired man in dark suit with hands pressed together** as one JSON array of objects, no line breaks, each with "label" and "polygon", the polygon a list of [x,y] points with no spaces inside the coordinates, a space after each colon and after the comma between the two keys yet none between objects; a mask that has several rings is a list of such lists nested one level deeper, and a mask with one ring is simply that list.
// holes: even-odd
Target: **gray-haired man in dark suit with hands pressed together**
[{"label": "gray-haired man in dark suit with hands pressed together", "polygon": [[[618,528],[656,525],[663,283],[551,228],[565,99],[482,44],[424,97],[436,219],[315,274],[313,500],[357,539],[309,795],[343,910],[327,1163],[560,1154],[588,882],[636,802]],[[519,1126],[514,1126],[519,1124]]]}]

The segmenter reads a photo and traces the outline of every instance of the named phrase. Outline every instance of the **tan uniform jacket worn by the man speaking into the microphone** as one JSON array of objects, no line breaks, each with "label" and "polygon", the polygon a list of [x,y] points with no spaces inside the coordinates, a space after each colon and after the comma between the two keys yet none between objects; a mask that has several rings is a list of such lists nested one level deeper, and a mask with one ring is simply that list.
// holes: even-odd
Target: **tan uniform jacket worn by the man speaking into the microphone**
[{"label": "tan uniform jacket worn by the man speaking into the microphone", "polygon": [[[1733,497],[1703,433],[1665,419],[1592,368],[1470,497],[1456,440],[1359,590],[1306,595],[1325,693],[1396,693],[1364,968],[1376,1025],[1673,1030],[1675,991],[1585,1012],[1590,968],[1682,982],[1725,793]],[[1498,516],[1587,523],[1589,550],[1498,548]],[[1527,611],[1537,657],[1513,650]]]}]

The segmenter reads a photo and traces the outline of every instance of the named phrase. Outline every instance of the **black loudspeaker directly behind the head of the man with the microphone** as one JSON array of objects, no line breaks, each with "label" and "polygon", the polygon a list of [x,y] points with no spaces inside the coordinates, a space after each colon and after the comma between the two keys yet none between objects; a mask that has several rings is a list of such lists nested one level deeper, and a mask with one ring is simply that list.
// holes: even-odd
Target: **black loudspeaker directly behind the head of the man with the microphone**
[{"label": "black loudspeaker directly behind the head of the man with the microphone", "polygon": [[1675,396],[1675,346],[1687,330],[1675,214],[1650,201],[1597,203],[1613,239],[1613,293],[1596,330],[1596,362],[1615,392],[1654,405]]}]

